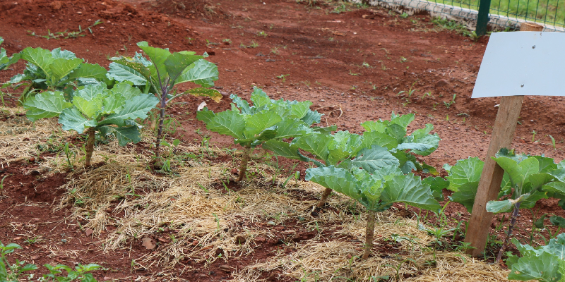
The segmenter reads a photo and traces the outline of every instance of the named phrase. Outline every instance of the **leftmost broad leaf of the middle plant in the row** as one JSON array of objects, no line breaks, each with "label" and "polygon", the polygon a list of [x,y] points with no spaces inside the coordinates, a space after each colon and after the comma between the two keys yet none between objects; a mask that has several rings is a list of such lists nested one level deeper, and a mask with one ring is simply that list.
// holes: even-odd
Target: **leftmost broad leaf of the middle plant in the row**
[{"label": "leftmost broad leaf of the middle plant in the row", "polygon": [[[214,114],[212,118],[209,118],[210,111],[199,111],[196,114],[196,118],[200,121],[206,123],[206,128],[208,130],[215,131],[223,135],[230,135],[237,139],[244,139],[245,130],[245,118],[242,114],[237,111],[222,111],[218,114]],[[208,122],[206,122],[208,120]]]}]

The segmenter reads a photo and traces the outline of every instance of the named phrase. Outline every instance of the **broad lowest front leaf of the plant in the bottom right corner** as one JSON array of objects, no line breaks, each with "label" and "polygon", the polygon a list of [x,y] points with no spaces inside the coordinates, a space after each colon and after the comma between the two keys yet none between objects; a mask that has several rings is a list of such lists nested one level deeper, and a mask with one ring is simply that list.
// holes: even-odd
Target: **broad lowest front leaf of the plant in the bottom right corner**
[{"label": "broad lowest front leaf of the plant in the bottom right corner", "polygon": [[561,274],[559,274],[557,265],[559,265],[559,258],[547,252],[537,257],[522,257],[518,259],[518,262],[512,264],[508,278],[519,281],[559,281]]}]

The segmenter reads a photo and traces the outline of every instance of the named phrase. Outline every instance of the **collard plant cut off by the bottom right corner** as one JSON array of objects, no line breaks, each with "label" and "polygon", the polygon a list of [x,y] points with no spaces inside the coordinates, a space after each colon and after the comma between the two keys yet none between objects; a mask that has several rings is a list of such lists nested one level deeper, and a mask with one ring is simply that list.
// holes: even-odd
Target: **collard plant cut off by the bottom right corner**
[{"label": "collard plant cut off by the bottom right corner", "polygon": [[506,259],[506,265],[511,269],[509,280],[565,282],[565,233],[540,247],[522,245],[516,238],[512,243],[521,256],[512,255]]}]

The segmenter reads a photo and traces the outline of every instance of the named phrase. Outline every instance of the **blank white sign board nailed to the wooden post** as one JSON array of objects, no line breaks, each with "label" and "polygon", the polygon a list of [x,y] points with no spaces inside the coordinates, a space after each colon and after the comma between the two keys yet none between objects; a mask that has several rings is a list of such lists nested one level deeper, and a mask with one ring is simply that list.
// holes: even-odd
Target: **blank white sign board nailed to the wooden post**
[{"label": "blank white sign board nailed to the wooden post", "polygon": [[472,98],[565,96],[565,32],[494,32]]}]

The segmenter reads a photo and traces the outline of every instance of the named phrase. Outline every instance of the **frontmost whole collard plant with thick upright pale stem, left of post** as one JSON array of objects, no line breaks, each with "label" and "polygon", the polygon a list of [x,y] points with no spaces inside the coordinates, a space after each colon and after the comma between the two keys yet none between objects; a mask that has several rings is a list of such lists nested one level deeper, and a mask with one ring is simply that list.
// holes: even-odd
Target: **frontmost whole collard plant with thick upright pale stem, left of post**
[{"label": "frontmost whole collard plant with thick upright pale stem, left of post", "polygon": [[306,180],[351,197],[367,208],[367,231],[362,259],[371,253],[377,212],[383,212],[395,202],[403,202],[421,209],[441,209],[434,200],[428,183],[422,183],[413,173],[404,174],[398,166],[383,166],[373,173],[362,168],[349,169],[335,166],[308,168]]}]

